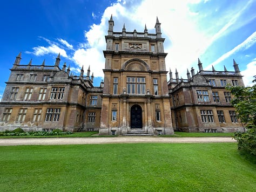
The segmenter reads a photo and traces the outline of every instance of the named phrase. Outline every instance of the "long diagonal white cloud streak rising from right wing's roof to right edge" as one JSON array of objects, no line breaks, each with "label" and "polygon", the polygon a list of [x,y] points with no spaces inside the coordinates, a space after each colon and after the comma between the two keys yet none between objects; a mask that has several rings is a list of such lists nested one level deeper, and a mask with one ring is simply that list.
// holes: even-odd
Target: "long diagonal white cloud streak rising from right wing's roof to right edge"
[{"label": "long diagonal white cloud streak rising from right wing's roof to right edge", "polygon": [[246,50],[246,49],[250,48],[255,43],[256,43],[256,31],[254,33],[252,33],[252,35],[249,36],[247,39],[245,39],[244,42],[242,42],[241,44],[234,47],[234,49],[232,49],[231,51],[228,51],[227,53],[223,54],[221,57],[219,57],[217,60],[215,60],[211,65],[208,65],[206,67],[206,70],[210,69],[212,65],[215,66],[215,65],[219,64],[221,61],[230,57],[235,52],[238,52],[241,50]]}]

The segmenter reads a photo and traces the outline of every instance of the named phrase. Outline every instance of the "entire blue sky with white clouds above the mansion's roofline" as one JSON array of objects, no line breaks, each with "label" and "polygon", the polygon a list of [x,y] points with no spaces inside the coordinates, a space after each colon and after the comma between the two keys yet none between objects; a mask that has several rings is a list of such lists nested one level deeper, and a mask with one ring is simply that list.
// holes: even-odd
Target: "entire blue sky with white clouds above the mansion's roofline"
[{"label": "entire blue sky with white clouds above the mansion's roofline", "polygon": [[[168,2],[168,3],[167,3]],[[166,68],[186,78],[186,70],[234,71],[239,64],[246,86],[256,75],[256,0],[8,0],[0,7],[0,99],[9,68],[22,52],[22,65],[53,65],[60,53],[60,67],[67,63],[78,74],[90,65],[95,86],[103,79],[107,20],[114,31],[154,33],[156,17],[165,38]],[[167,76],[169,77],[169,76]]]}]

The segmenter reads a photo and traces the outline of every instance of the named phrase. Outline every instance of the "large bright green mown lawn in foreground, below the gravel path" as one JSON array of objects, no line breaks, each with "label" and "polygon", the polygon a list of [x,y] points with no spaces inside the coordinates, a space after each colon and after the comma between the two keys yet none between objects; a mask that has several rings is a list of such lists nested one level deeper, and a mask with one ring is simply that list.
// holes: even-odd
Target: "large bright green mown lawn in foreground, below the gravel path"
[{"label": "large bright green mown lawn in foreground, below the gravel path", "polygon": [[1,146],[0,191],[255,191],[237,143]]}]

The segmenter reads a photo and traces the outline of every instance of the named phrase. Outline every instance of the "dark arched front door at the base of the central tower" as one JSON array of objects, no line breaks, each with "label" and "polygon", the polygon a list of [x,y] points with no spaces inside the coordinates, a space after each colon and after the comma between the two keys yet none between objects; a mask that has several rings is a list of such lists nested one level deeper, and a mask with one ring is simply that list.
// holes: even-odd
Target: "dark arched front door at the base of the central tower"
[{"label": "dark arched front door at the base of the central tower", "polygon": [[142,128],[142,107],[139,105],[133,105],[131,107],[131,128]]}]

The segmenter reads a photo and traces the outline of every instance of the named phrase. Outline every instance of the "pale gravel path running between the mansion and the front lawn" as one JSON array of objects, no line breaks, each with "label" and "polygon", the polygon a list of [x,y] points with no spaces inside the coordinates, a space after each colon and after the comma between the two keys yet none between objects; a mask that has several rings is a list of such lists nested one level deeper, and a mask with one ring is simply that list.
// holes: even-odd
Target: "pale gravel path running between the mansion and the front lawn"
[{"label": "pale gravel path running between the mansion and the front lawn", "polygon": [[11,138],[0,139],[0,146],[17,145],[78,145],[105,143],[205,143],[237,142],[230,137],[167,138],[161,136],[117,136],[98,138]]}]

